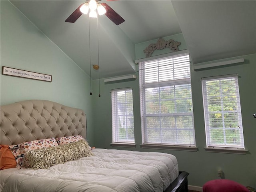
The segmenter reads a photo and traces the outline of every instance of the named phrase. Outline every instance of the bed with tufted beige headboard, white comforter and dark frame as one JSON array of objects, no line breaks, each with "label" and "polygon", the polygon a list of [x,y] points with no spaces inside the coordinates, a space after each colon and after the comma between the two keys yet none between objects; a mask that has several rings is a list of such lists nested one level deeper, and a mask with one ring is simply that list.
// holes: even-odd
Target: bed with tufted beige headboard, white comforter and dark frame
[{"label": "bed with tufted beige headboard, white comforter and dark frame", "polygon": [[[31,143],[35,140],[86,138],[86,115],[81,109],[64,106],[56,102],[26,100],[1,106],[0,127],[1,146],[22,148],[24,146],[22,143]],[[57,163],[58,158],[66,158],[66,155],[60,155],[62,152],[73,154],[72,150],[75,149],[79,156],[83,148],[81,148],[79,142],[85,142],[85,140],[63,144],[62,146],[58,143],[57,146],[27,150],[26,153],[24,152],[26,158],[30,157],[33,152],[36,155],[41,155],[39,159],[38,156],[32,154],[33,163],[39,167],[33,167],[32,161],[29,161],[30,168],[23,167],[19,169],[15,167],[1,170],[1,191],[188,191],[188,173],[178,170],[177,159],[171,154],[91,149],[89,146],[90,151],[86,149],[86,152],[89,151],[88,156]],[[63,150],[63,147],[66,147],[66,149]],[[46,150],[54,153],[58,158],[51,156],[51,161],[54,164],[42,168],[42,165],[48,165],[44,164],[42,160],[46,157],[42,155],[42,152]],[[58,150],[60,150],[59,154],[57,153]]]}]

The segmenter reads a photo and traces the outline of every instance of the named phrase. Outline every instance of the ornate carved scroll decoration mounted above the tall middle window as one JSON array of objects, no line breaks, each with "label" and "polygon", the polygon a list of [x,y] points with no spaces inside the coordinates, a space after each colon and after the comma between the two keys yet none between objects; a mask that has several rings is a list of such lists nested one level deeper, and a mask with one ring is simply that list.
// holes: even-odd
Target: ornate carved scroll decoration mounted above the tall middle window
[{"label": "ornate carved scroll decoration mounted above the tall middle window", "polygon": [[146,57],[151,57],[154,50],[161,50],[164,48],[170,48],[173,52],[176,52],[179,50],[178,46],[181,44],[181,42],[174,41],[172,39],[166,41],[162,38],[158,39],[156,44],[150,44],[145,50],[144,53],[146,53]]}]

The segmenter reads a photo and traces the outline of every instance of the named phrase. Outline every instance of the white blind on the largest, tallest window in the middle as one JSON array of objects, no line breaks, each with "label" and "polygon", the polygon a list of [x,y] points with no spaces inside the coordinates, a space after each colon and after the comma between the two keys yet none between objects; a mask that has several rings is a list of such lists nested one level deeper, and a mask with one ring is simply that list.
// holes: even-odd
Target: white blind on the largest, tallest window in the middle
[{"label": "white blind on the largest, tallest window in the middle", "polygon": [[143,144],[196,146],[189,54],[139,63]]}]

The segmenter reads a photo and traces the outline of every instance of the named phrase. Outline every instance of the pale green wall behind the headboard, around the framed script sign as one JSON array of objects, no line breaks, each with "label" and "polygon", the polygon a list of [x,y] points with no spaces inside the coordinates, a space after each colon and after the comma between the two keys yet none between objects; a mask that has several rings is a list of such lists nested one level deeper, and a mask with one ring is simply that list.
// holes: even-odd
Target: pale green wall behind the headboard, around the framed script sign
[{"label": "pale green wall behind the headboard, around the framed script sign", "polygon": [[9,1],[0,3],[1,67],[52,75],[52,82],[44,82],[1,74],[1,105],[43,99],[81,108],[88,120],[87,139],[93,143],[89,76]]}]

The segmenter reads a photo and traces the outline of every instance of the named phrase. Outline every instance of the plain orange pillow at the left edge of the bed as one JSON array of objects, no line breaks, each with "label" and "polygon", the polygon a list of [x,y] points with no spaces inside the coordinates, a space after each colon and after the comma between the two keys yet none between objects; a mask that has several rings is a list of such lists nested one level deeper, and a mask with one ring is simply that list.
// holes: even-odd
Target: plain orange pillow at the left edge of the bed
[{"label": "plain orange pillow at the left edge of the bed", "polygon": [[8,145],[0,145],[1,170],[16,167],[16,160]]}]

